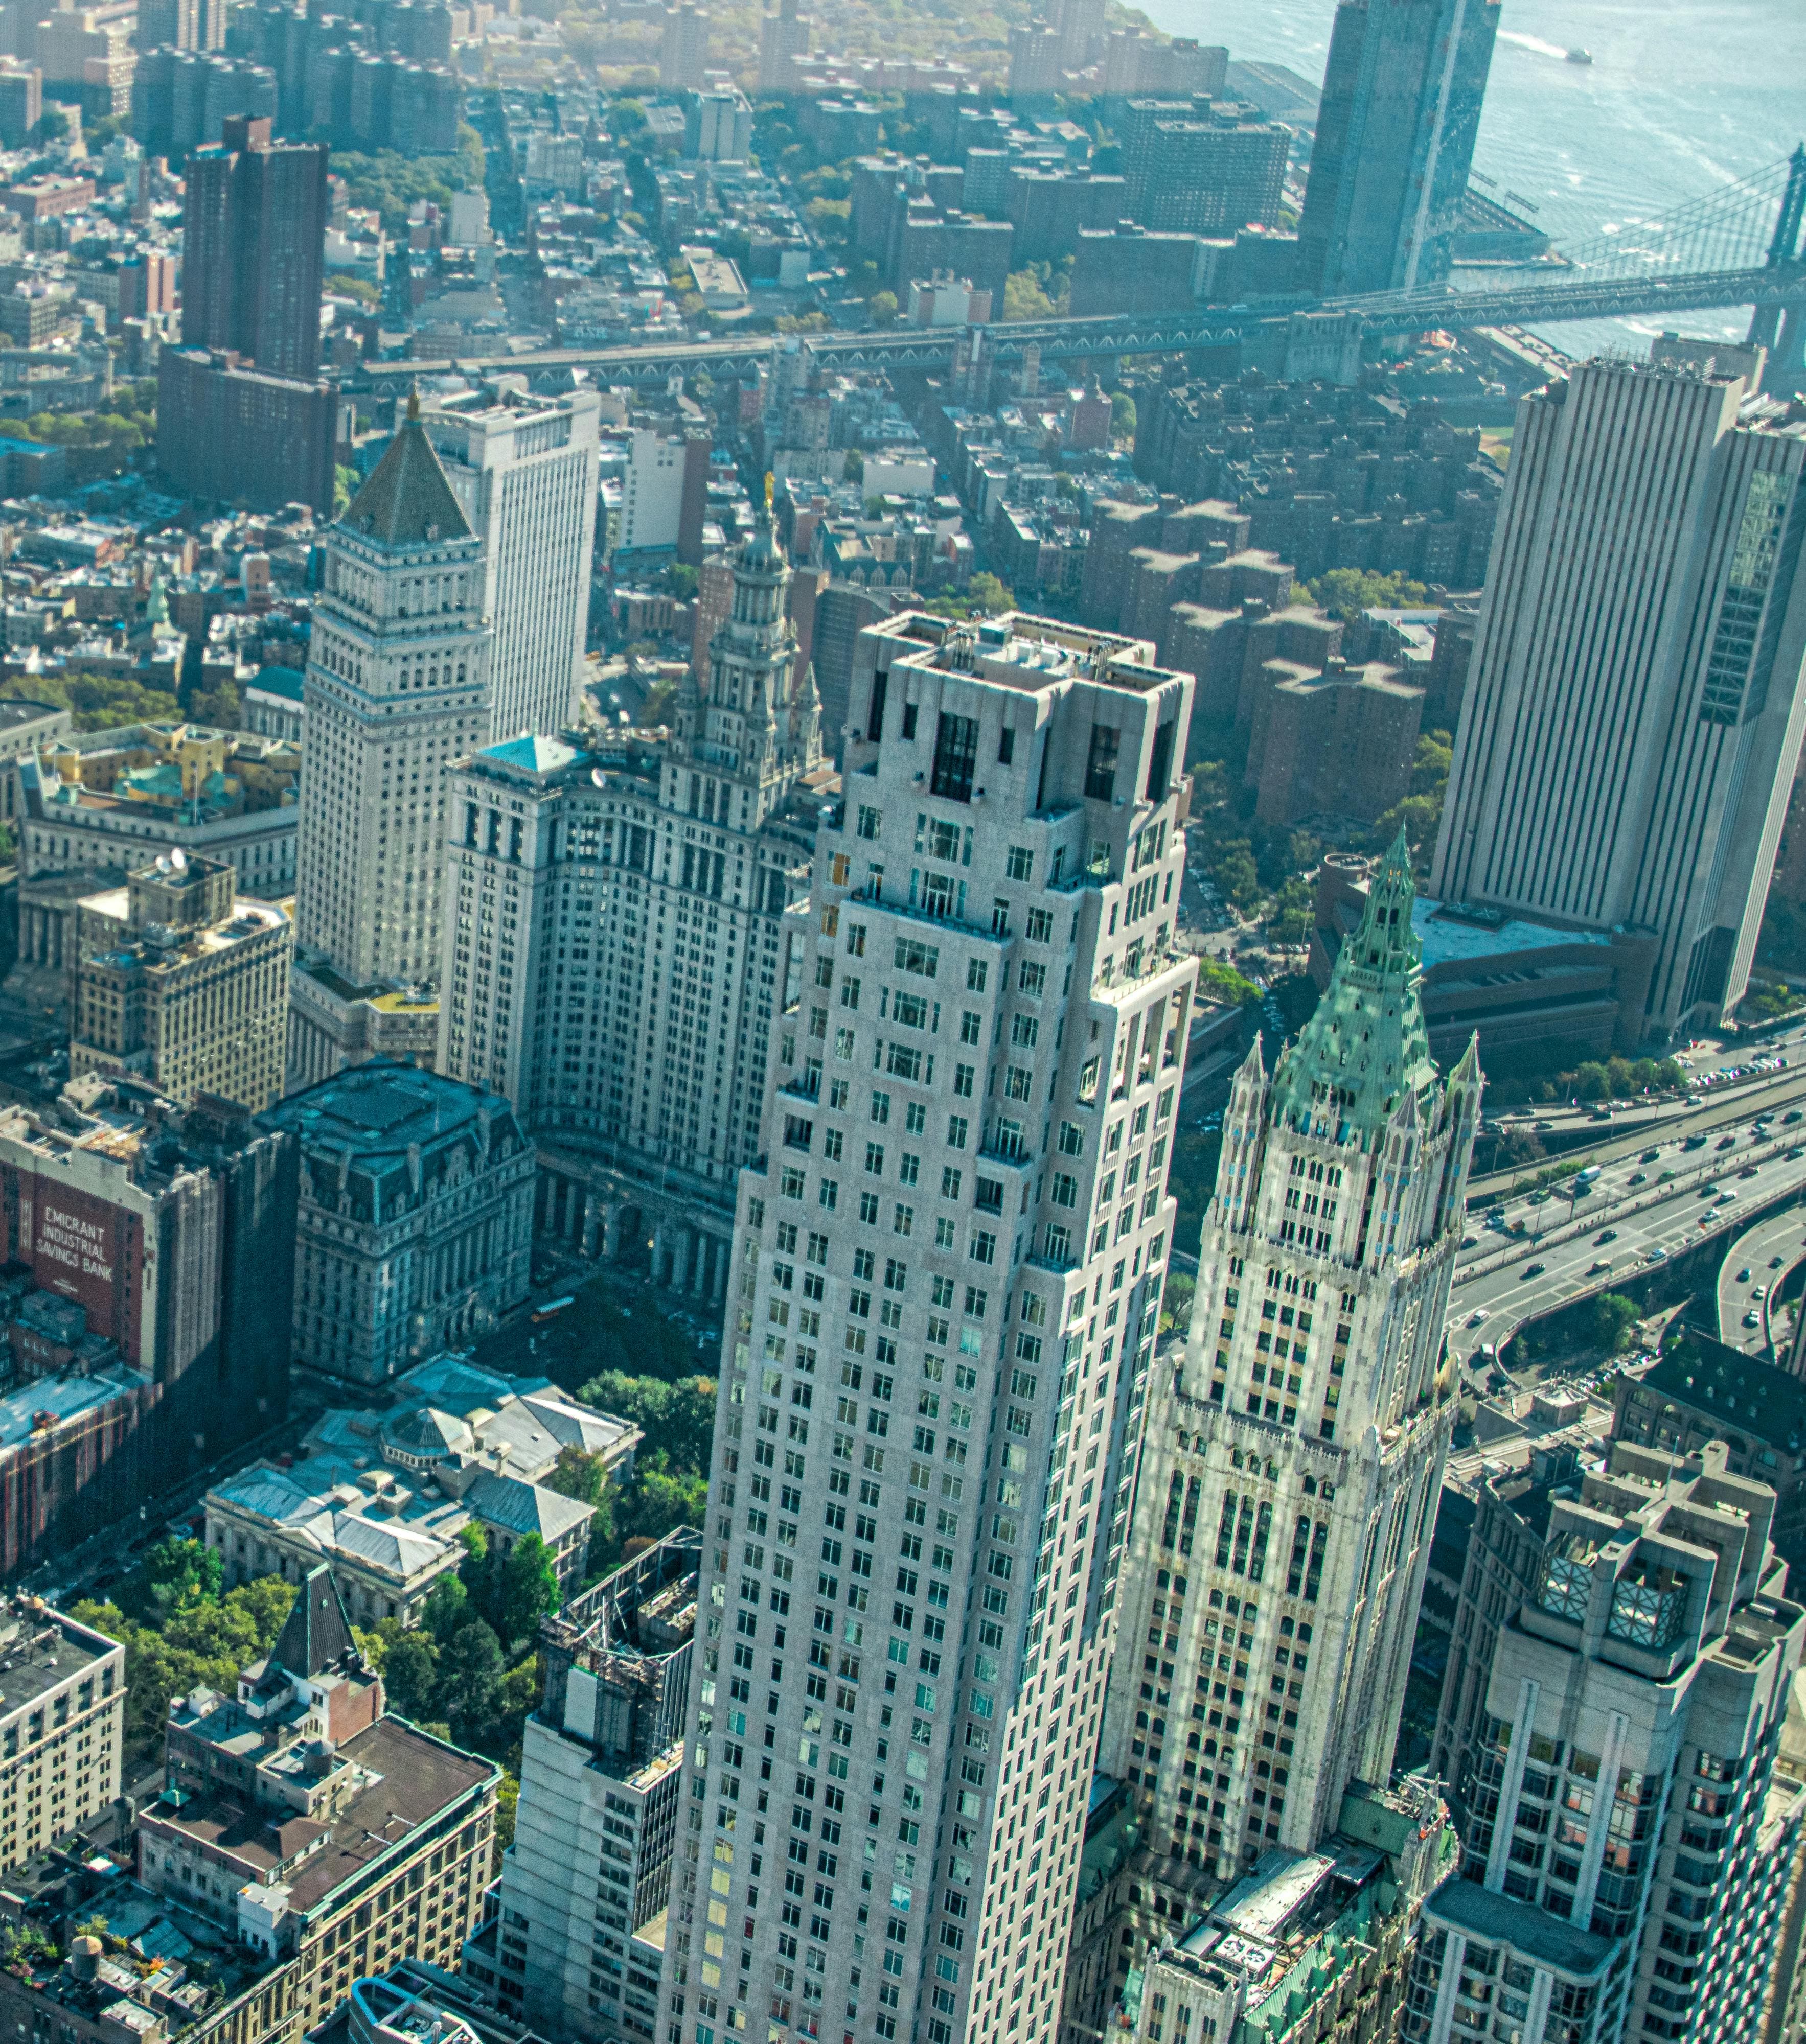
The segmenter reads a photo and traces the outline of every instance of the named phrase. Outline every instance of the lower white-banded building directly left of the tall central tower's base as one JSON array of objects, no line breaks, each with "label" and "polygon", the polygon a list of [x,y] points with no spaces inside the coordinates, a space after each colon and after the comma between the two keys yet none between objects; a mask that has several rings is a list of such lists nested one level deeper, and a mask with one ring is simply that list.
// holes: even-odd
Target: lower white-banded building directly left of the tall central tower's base
[{"label": "lower white-banded building directly left of the tall central tower's base", "polygon": [[699,1533],[669,1533],[540,1627],[513,1846],[464,1972],[546,2036],[657,2036],[699,1562]]}]

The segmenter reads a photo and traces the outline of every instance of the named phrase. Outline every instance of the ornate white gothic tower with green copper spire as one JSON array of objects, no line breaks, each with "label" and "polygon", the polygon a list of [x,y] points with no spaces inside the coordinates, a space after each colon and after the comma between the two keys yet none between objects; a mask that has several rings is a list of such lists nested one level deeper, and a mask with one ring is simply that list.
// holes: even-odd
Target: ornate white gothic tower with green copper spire
[{"label": "ornate white gothic tower with green copper spire", "polygon": [[1391,1780],[1481,1096],[1473,1047],[1430,1063],[1411,897],[1399,840],[1299,1040],[1235,1075],[1184,1367],[1149,1398],[1102,1766],[1184,1893]]}]

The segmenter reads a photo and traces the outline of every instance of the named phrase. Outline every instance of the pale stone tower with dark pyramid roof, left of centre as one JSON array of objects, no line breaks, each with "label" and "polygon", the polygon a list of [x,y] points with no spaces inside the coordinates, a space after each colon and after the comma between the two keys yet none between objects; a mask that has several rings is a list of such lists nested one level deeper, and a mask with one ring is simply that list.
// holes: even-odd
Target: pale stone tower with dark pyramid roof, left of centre
[{"label": "pale stone tower with dark pyramid roof, left of centre", "polygon": [[446,769],[489,736],[483,548],[419,401],[325,536],[307,656],[288,1083],[395,1053],[438,1010]]}]

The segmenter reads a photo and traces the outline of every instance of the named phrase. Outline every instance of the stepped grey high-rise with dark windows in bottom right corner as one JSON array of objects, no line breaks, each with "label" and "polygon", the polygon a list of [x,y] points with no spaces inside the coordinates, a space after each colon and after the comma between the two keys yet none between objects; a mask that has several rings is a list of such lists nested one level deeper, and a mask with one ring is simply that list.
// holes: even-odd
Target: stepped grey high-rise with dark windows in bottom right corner
[{"label": "stepped grey high-rise with dark windows in bottom right corner", "polygon": [[[1806,1788],[1775,1768],[1806,1611],[1773,1492],[1614,1443],[1499,1631],[1462,1874],[1424,1905],[1403,2038],[1761,2036]],[[1610,1791],[1610,1793],[1608,1793]],[[1483,2034],[1483,2032],[1481,2032]]]}]

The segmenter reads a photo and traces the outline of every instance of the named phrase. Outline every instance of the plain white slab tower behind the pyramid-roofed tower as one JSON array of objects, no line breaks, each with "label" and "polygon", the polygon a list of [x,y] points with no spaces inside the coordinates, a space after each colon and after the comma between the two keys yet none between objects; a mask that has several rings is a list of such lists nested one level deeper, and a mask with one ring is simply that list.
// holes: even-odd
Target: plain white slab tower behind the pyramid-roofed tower
[{"label": "plain white slab tower behind the pyramid-roofed tower", "polygon": [[489,734],[554,736],[573,717],[589,642],[601,399],[485,388],[425,413],[452,495],[483,542]]}]

